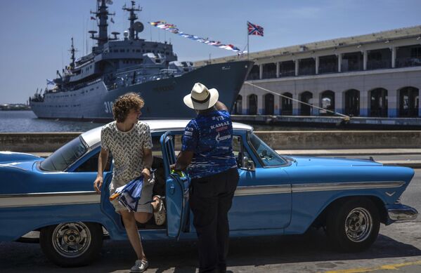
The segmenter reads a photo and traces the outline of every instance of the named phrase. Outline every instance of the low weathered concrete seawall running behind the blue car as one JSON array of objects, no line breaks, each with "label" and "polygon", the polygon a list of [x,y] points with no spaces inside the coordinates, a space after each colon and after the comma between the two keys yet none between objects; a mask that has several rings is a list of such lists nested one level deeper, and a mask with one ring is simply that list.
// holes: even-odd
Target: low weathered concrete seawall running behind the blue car
[{"label": "low weathered concrete seawall running behind the blue car", "polygon": [[[0,133],[0,151],[53,152],[80,133]],[[273,149],[420,148],[421,131],[257,131]]]}]

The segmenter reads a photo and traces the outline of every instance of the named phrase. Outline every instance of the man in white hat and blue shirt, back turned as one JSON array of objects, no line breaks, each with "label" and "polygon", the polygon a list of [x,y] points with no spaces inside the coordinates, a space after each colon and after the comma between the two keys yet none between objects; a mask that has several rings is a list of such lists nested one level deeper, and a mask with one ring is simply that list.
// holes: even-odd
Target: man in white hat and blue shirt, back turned
[{"label": "man in white hat and blue shirt, back turned", "polygon": [[199,272],[226,272],[228,211],[238,184],[233,155],[233,125],[216,89],[197,83],[184,103],[197,116],[186,126],[176,171],[188,167],[190,208],[199,248]]}]

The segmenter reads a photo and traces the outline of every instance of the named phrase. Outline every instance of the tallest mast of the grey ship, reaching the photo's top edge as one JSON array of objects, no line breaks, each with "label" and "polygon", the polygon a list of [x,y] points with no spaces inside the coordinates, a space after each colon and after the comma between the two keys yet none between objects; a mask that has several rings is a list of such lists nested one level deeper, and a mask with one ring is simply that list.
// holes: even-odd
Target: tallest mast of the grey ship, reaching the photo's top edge
[{"label": "tallest mast of the grey ship, reaching the photo's top edge", "polygon": [[111,0],[98,0],[98,3],[101,1],[101,5],[97,6],[97,11],[91,11],[91,14],[95,14],[98,21],[98,28],[99,34],[98,36],[94,36],[96,31],[91,30],[91,39],[98,41],[98,51],[102,51],[103,46],[110,40],[114,40],[114,38],[108,37],[108,15],[115,15],[115,13],[108,13],[108,6],[107,4],[112,4]]}]

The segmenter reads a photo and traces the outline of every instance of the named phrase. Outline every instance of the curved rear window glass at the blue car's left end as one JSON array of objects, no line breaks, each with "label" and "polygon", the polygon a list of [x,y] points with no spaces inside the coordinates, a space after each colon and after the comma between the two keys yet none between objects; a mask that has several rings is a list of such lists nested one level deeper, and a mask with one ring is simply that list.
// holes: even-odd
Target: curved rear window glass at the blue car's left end
[{"label": "curved rear window glass at the blue car's left end", "polygon": [[41,162],[44,171],[64,171],[86,152],[81,137],[75,138]]}]

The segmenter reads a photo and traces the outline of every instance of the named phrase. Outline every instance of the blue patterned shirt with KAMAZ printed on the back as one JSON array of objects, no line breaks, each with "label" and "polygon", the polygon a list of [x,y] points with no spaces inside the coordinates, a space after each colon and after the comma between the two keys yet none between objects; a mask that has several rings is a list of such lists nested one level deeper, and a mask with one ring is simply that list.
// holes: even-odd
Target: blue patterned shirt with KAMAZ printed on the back
[{"label": "blue patterned shirt with KAMAZ printed on the back", "polygon": [[225,111],[198,114],[186,126],[181,151],[194,152],[188,167],[190,178],[203,178],[235,168],[233,123]]}]

